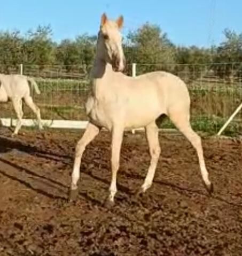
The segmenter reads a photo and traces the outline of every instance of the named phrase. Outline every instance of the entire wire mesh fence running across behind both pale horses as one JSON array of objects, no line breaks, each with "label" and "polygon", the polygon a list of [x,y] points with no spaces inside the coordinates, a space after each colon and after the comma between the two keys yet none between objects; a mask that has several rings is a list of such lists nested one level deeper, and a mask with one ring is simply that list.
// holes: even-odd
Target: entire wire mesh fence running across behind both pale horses
[{"label": "entire wire mesh fence running across behind both pale horses", "polygon": [[[239,67],[239,68],[238,68]],[[194,130],[216,133],[242,102],[241,64],[210,63],[198,65],[136,64],[136,75],[165,70],[176,74],[188,85],[191,96],[191,123]],[[33,99],[41,108],[43,119],[81,120],[87,119],[84,103],[88,96],[90,66],[27,66],[23,74],[34,77],[41,94],[33,92]],[[4,70],[0,67],[0,70]],[[133,70],[134,71],[134,70]],[[132,74],[132,64],[126,67]],[[17,66],[9,73],[20,73]],[[11,103],[1,103],[1,117],[15,118]],[[24,118],[35,118],[24,105]],[[174,127],[169,119],[162,127]],[[242,111],[229,124],[226,133],[242,134]]]}]

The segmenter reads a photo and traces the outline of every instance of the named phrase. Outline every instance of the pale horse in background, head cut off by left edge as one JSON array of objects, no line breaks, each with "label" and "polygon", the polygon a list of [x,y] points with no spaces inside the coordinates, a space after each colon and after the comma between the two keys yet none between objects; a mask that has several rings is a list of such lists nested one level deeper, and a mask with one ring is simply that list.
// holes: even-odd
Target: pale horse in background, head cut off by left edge
[{"label": "pale horse in background, head cut off by left edge", "polygon": [[22,99],[25,100],[27,106],[36,115],[39,129],[43,129],[40,109],[33,102],[28,82],[34,87],[35,92],[40,94],[40,89],[33,78],[19,74],[0,74],[0,102],[11,100],[18,118],[12,136],[18,134],[22,125],[22,116],[24,115],[22,111]]}]

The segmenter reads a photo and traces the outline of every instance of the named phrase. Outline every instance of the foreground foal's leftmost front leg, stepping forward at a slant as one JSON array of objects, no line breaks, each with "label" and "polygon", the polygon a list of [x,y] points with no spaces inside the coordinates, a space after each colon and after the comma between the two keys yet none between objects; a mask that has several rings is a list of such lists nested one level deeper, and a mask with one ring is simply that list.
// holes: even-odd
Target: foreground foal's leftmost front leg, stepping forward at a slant
[{"label": "foreground foal's leftmost front leg, stepping forward at a slant", "polygon": [[72,172],[72,184],[71,184],[71,193],[69,195],[70,200],[75,200],[77,196],[77,182],[80,178],[80,165],[82,154],[85,150],[85,147],[96,137],[100,129],[92,123],[88,123],[87,128],[82,136],[82,138],[77,142],[75,149],[75,161]]}]

